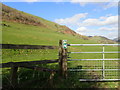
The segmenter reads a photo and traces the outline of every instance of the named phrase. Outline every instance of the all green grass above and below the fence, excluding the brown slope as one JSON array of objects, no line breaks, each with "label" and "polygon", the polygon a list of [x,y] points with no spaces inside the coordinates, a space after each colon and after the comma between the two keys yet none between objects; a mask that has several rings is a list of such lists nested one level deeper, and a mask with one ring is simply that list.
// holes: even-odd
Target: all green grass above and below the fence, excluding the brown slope
[{"label": "all green grass above and below the fence, excluding the brown slope", "polygon": [[[93,40],[84,40],[77,36],[72,36],[68,34],[63,34],[57,32],[57,30],[48,29],[40,26],[32,26],[25,24],[18,24],[14,22],[3,23],[10,25],[10,27],[3,27],[2,38],[3,44],[28,44],[28,45],[52,45],[58,46],[60,39],[68,40],[68,43],[84,43],[84,44],[96,44],[98,42]],[[91,51],[102,51],[102,47],[68,47],[69,51],[72,52],[91,52]],[[118,51],[118,47],[108,46],[105,47],[105,51]],[[102,54],[70,54],[71,59],[87,59],[87,58],[102,58]],[[118,58],[118,54],[105,54],[105,58]],[[2,63],[7,62],[21,62],[21,61],[36,61],[36,60],[49,60],[58,59],[58,50],[25,50],[25,49],[3,49],[2,50]],[[105,68],[118,68],[119,62],[116,61],[105,61]],[[55,68],[58,69],[58,64],[47,64],[40,65],[41,67]],[[68,62],[69,68],[80,69],[100,69],[102,67],[101,61],[71,61]],[[3,69],[3,85],[9,85],[10,80],[10,68]],[[100,72],[68,72],[68,78],[66,80],[61,80],[58,74],[54,77],[54,88],[117,88],[119,87],[118,82],[80,82],[80,78],[93,78],[95,74],[101,75]],[[106,78],[116,78],[118,73],[107,72],[106,75],[111,74],[113,76],[106,76]],[[35,84],[29,84],[29,87],[49,87],[48,78],[50,73],[43,73],[38,71],[33,71],[29,69],[19,68],[19,83],[23,83],[27,80],[36,80]],[[115,76],[117,75],[117,76]],[[85,76],[85,77],[82,77]],[[100,76],[101,78],[101,76]],[[43,80],[44,79],[44,80]],[[27,85],[23,85],[26,87]]]}]

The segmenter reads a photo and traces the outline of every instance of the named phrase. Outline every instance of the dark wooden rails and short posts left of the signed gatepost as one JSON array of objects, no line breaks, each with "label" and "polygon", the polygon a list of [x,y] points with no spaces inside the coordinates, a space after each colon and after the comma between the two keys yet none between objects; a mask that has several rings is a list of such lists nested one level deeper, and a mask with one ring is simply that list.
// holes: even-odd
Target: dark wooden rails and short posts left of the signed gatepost
[{"label": "dark wooden rails and short posts left of the signed gatepost", "polygon": [[[2,49],[58,49],[58,46],[45,46],[45,45],[16,45],[16,44],[0,44]],[[49,63],[57,63],[58,59],[52,60],[40,60],[40,61],[24,61],[24,62],[8,62],[8,63],[1,63],[1,68],[11,68],[10,69],[10,82],[11,88],[18,87],[18,68],[27,68],[31,70],[37,70],[42,72],[49,72],[50,74],[50,82],[54,77],[53,74],[57,73],[57,69],[50,69],[45,67],[36,66],[39,64],[49,64]],[[26,82],[25,82],[26,83]]]}]

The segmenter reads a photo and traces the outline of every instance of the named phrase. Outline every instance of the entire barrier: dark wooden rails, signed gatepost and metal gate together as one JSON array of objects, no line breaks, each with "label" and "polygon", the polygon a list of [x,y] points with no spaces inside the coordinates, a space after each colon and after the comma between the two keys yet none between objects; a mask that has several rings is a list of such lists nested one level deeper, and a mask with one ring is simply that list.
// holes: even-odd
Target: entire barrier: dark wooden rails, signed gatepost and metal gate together
[{"label": "entire barrier: dark wooden rails, signed gatepost and metal gate together", "polygon": [[[102,52],[68,52],[68,46],[103,46]],[[114,59],[105,59],[105,54],[106,53],[120,53],[120,52],[105,52],[105,47],[104,46],[120,46],[120,44],[68,44],[67,40],[60,40],[59,41],[59,58],[57,60],[40,60],[40,61],[29,61],[29,62],[8,62],[8,63],[2,63],[1,68],[5,67],[11,67],[11,82],[12,85],[15,87],[17,85],[17,70],[18,67],[24,67],[24,68],[29,68],[33,70],[39,70],[39,71],[47,71],[51,72],[52,76],[53,72],[59,72],[60,76],[63,78],[66,78],[67,72],[68,71],[102,71],[102,79],[88,79],[88,78],[83,78],[80,79],[80,81],[119,81],[120,79],[106,79],[105,78],[105,72],[106,71],[116,71],[118,72],[120,68],[116,69],[106,69],[105,68],[105,62],[106,61],[117,61],[119,63],[119,58],[114,58]],[[35,46],[35,45],[4,45],[2,46],[4,49],[54,49],[52,46]],[[57,48],[57,47],[55,47]],[[68,59],[68,54],[81,54],[81,53],[93,53],[93,54],[102,54],[102,59]],[[68,61],[102,61],[102,65],[100,66],[100,69],[69,69],[68,68]],[[57,63],[59,64],[59,70],[54,70],[54,69],[48,69],[48,68],[41,68],[41,67],[36,67],[36,64],[43,64],[43,63]],[[84,63],[84,62],[83,62]],[[112,62],[111,62],[112,63]]]}]

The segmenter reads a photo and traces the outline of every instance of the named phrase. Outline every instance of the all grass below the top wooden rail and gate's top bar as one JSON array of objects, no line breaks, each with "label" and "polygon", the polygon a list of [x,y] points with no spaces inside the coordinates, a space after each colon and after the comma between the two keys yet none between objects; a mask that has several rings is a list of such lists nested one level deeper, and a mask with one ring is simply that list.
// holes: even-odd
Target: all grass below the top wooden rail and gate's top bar
[{"label": "all grass below the top wooden rail and gate's top bar", "polygon": [[[95,51],[95,49],[97,49],[97,47],[91,47],[92,49],[85,50],[85,48],[81,48],[81,51],[90,51],[93,50]],[[93,49],[95,48],[95,49]],[[79,51],[79,48],[76,49],[74,47],[70,48],[71,51]],[[114,49],[112,49],[113,51],[115,51],[117,49],[117,47],[114,47]],[[101,51],[101,47],[97,49],[98,51]],[[110,50],[111,51],[111,50]],[[18,61],[34,61],[34,60],[44,60],[44,59],[57,59],[58,58],[58,50],[24,50],[24,49],[18,49],[18,50],[12,50],[12,49],[4,49],[3,50],[3,63],[4,62],[9,62],[10,60],[13,62],[18,62]],[[108,58],[117,58],[117,54],[113,54],[113,55],[106,55]],[[70,57],[74,58],[102,58],[102,54],[71,54]],[[105,65],[106,65],[106,69],[109,68],[114,68],[117,69],[119,62],[117,61],[105,61]],[[82,69],[102,69],[102,61],[71,61],[68,62],[68,68],[76,68],[76,69],[80,69],[80,66],[82,66]],[[55,68],[58,69],[58,64],[47,64],[47,65],[42,65],[42,67],[47,67],[47,68]],[[8,81],[7,79],[5,79],[6,77],[8,78],[9,75],[9,69],[3,69],[3,73],[4,73],[4,81]],[[6,73],[7,72],[7,73]],[[31,87],[37,87],[37,88],[45,88],[45,86],[49,87],[49,82],[48,82],[48,78],[50,76],[50,73],[42,73],[42,72],[38,72],[38,71],[32,71],[29,69],[20,69],[19,68],[19,72],[20,75],[19,78],[19,83],[23,83],[26,82],[27,80],[36,80],[37,78],[39,78],[38,80],[42,80],[44,78],[44,81],[42,82],[37,82],[36,84],[32,84]],[[118,78],[119,74],[118,71],[117,72],[105,72],[106,73],[106,79],[109,78]],[[112,75],[109,76],[108,74]],[[6,76],[7,75],[7,76]],[[117,88],[119,87],[118,82],[80,82],[79,79],[80,78],[95,78],[96,77],[100,77],[102,78],[102,72],[101,71],[97,71],[97,72],[68,72],[68,79],[67,80],[60,80],[58,78],[58,74],[55,74],[54,77],[54,85],[52,87],[54,88]],[[34,76],[34,77],[33,77]],[[32,77],[32,78],[31,78]],[[58,82],[59,80],[59,82]],[[6,83],[6,82],[4,82]],[[62,84],[61,84],[62,83]],[[6,84],[7,85],[7,84]],[[26,86],[22,86],[22,87],[26,87]],[[26,87],[27,88],[27,87]],[[29,88],[29,87],[28,87]]]}]

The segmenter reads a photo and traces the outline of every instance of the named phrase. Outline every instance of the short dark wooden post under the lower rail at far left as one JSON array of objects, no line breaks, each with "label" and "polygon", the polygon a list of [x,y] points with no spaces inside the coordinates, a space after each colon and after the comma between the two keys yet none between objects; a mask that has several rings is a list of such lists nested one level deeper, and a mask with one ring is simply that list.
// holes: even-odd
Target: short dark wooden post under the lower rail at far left
[{"label": "short dark wooden post under the lower rail at far left", "polygon": [[12,88],[16,88],[18,82],[17,82],[17,70],[18,70],[18,67],[15,67],[15,66],[12,66],[11,67],[11,87]]}]

